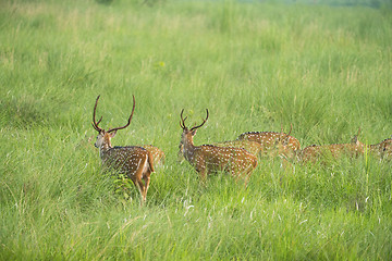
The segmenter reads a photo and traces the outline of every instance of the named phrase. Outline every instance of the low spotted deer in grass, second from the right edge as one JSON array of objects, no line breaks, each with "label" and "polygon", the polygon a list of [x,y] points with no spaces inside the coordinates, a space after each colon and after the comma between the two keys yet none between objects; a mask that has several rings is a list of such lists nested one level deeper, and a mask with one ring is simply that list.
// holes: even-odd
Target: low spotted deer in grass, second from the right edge
[{"label": "low spotted deer in grass, second from the right edge", "polygon": [[358,134],[355,135],[350,144],[332,144],[332,145],[311,145],[303,149],[299,153],[299,161],[316,162],[323,158],[331,157],[339,159],[342,156],[351,158],[358,157],[364,153],[365,145],[358,140]]}]

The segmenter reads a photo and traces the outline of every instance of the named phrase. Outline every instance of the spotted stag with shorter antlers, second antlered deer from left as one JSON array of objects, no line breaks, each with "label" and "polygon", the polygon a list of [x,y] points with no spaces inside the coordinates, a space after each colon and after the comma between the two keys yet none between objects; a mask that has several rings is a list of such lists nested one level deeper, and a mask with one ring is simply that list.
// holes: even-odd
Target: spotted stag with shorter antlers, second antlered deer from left
[{"label": "spotted stag with shorter antlers, second antlered deer from left", "polygon": [[207,116],[203,120],[203,123],[195,125],[191,129],[185,125],[186,117],[183,119],[184,110],[181,111],[180,126],[183,129],[179,146],[181,153],[199,173],[203,182],[206,182],[207,174],[222,171],[237,178],[243,177],[245,185],[247,185],[252,172],[257,166],[256,156],[241,148],[194,145],[193,138],[196,135],[196,130],[208,120],[208,109],[206,111]]}]

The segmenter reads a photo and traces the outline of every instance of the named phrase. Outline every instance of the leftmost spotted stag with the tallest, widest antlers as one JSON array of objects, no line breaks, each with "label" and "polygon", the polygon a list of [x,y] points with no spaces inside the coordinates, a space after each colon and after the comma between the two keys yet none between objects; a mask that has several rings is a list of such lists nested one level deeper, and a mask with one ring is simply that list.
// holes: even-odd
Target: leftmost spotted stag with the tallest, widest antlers
[{"label": "leftmost spotted stag with the tallest, widest antlers", "polygon": [[143,204],[143,202],[146,201],[147,190],[150,183],[150,174],[154,172],[151,153],[137,146],[112,147],[111,145],[111,138],[114,137],[117,132],[126,128],[131,124],[131,120],[135,111],[135,97],[133,97],[132,113],[127,123],[122,127],[110,128],[109,130],[105,130],[98,126],[102,117],[100,117],[98,122],[96,121],[98,99],[99,96],[97,97],[93,112],[93,127],[98,132],[95,147],[99,148],[99,156],[103,165],[112,167],[120,173],[124,173],[131,178],[140,192],[140,203]]}]

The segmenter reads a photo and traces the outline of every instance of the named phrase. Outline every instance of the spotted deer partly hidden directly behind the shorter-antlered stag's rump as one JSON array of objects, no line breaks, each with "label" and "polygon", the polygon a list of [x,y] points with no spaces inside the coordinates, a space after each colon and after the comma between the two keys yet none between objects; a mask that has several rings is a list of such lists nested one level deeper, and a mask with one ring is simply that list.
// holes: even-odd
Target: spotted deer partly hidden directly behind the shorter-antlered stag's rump
[{"label": "spotted deer partly hidden directly behind the shorter-antlered stag's rump", "polygon": [[237,137],[237,140],[249,140],[256,141],[261,145],[260,156],[282,156],[292,158],[299,150],[299,141],[291,136],[291,129],[287,134],[283,133],[283,129],[278,132],[247,132],[243,133]]}]

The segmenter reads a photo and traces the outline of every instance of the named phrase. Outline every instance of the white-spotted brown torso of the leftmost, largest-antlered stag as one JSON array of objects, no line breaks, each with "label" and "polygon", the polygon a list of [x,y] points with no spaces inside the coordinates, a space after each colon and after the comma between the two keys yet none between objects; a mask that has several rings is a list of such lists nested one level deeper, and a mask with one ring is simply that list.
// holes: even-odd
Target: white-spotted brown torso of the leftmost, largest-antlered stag
[{"label": "white-spotted brown torso of the leftmost, largest-antlered stag", "polygon": [[140,166],[143,166],[142,177],[144,173],[155,172],[150,152],[137,146],[115,146],[107,152],[103,162],[106,166],[130,177],[133,177]]}]

